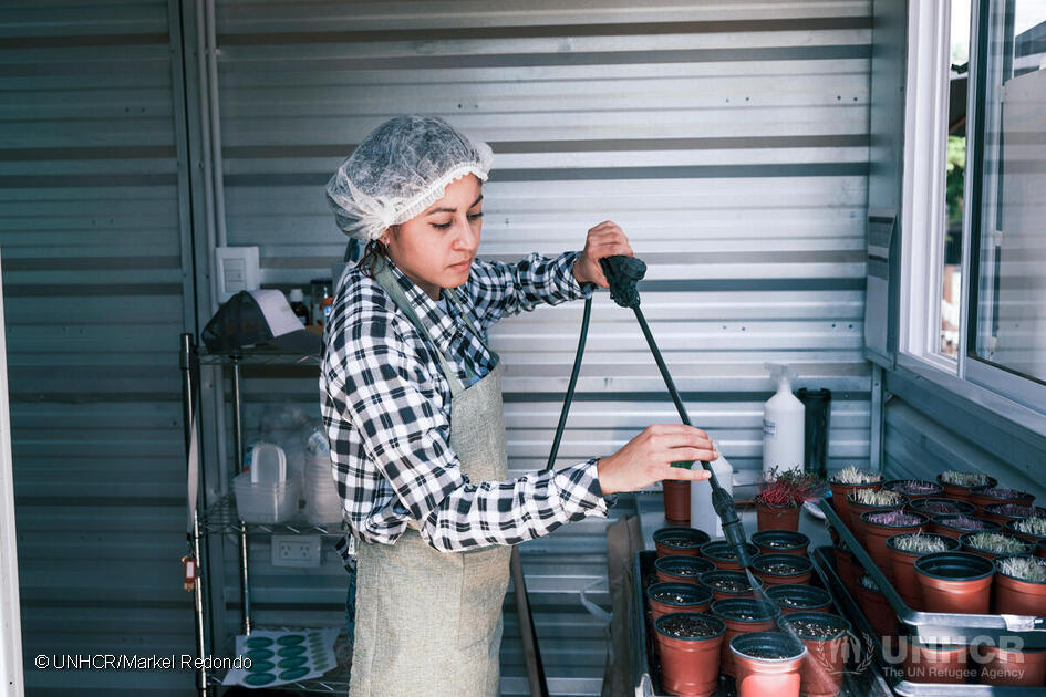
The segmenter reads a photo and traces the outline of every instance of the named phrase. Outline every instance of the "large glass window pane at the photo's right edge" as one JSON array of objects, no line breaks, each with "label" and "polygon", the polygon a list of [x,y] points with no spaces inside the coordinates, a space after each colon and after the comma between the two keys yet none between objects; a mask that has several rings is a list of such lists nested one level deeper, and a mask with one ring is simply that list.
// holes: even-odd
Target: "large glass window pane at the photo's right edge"
[{"label": "large glass window pane at the photo's right edge", "polygon": [[1046,384],[1046,2],[984,4],[969,354]]}]

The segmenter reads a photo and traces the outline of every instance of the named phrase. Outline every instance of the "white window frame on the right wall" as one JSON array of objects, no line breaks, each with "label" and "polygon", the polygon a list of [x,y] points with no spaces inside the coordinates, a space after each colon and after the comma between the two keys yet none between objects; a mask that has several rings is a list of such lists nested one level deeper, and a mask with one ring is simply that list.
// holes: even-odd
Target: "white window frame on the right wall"
[{"label": "white window frame on the right wall", "polygon": [[[971,1],[966,133],[976,134],[980,1]],[[945,156],[951,2],[911,2],[904,107],[904,168],[899,264],[900,322],[897,364],[1033,433],[1046,436],[1046,387],[967,356],[972,279],[971,195],[966,169],[962,245],[962,304],[957,360],[940,352],[941,277],[945,235]],[[972,148],[967,148],[972,153]],[[918,194],[918,195],[916,195]],[[980,215],[980,211],[977,211]]]}]

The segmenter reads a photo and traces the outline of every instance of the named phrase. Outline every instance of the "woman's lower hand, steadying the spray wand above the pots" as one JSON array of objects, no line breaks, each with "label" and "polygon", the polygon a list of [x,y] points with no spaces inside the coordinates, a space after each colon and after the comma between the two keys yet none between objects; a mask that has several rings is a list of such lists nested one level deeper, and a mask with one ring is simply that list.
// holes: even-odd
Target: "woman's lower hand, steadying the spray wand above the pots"
[{"label": "woman's lower hand, steadying the spray wand above the pots", "polygon": [[672,462],[718,459],[708,434],[685,424],[653,424],[623,448],[597,462],[603,495],[635,491],[664,479],[698,481],[711,475],[703,467],[683,469]]}]

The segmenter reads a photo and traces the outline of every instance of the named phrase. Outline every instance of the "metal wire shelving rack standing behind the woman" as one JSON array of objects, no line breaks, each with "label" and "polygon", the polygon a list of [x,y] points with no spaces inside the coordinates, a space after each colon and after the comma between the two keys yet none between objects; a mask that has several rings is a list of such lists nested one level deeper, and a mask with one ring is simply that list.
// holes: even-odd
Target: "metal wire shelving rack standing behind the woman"
[{"label": "metal wire shelving rack standing behind the woman", "polygon": [[[182,366],[182,400],[185,417],[185,443],[186,451],[189,450],[189,443],[193,436],[193,429],[197,430],[197,440],[199,436],[199,422],[196,415],[199,413],[199,368],[201,365],[217,365],[222,368],[228,367],[231,373],[232,395],[232,452],[235,462],[244,461],[244,419],[242,419],[242,367],[245,365],[319,365],[320,357],[317,355],[291,354],[273,350],[251,350],[236,353],[201,353],[191,334],[182,334],[179,344],[180,366]],[[207,537],[210,534],[235,534],[239,552],[239,581],[240,581],[240,607],[242,608],[242,633],[249,635],[256,627],[250,615],[250,570],[247,559],[247,538],[249,534],[320,534],[320,535],[341,535],[343,530],[340,523],[334,524],[312,524],[296,517],[294,519],[279,523],[247,523],[239,519],[236,513],[236,501],[231,495],[225,495],[218,501],[207,506],[206,487],[204,486],[204,472],[199,472],[199,487],[197,488],[197,508],[195,520],[193,521],[193,532],[190,534],[190,544],[193,547],[197,563],[198,574],[195,587],[195,621],[196,621],[196,649],[197,655],[204,657],[207,655],[207,646],[204,638],[205,627],[207,625],[208,599],[204,595],[204,579],[207,573],[206,554]],[[294,630],[300,627],[272,627],[277,630]],[[225,655],[231,655],[231,642],[225,647]],[[214,694],[211,687],[220,685],[220,677],[203,668],[197,674],[197,691],[201,697]],[[282,685],[281,689],[299,689],[311,693],[346,693],[349,690],[348,674],[340,675],[336,672],[328,674],[323,678],[301,680],[289,685]]]}]

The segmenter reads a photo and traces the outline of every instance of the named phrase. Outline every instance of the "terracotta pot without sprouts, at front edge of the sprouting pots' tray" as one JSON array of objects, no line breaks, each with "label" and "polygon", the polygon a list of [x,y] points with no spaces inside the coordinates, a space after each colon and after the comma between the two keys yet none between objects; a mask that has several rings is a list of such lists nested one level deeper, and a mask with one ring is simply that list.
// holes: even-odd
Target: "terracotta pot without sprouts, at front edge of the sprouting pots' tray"
[{"label": "terracotta pot without sprouts, at front edge of the sprouting pots' tray", "polygon": [[934,552],[915,560],[928,612],[984,614],[992,604],[992,562],[966,552]]}]

